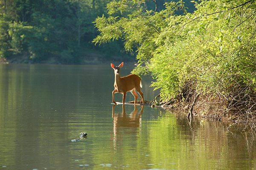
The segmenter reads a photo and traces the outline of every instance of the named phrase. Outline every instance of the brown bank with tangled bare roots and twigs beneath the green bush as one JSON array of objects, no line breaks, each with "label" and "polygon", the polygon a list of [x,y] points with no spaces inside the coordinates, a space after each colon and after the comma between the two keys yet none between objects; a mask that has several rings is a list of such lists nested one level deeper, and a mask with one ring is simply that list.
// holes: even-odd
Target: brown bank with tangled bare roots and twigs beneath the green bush
[{"label": "brown bank with tangled bare roots and twigs beneath the green bush", "polygon": [[212,97],[214,94],[198,95],[197,99],[190,98],[190,102],[181,101],[180,99],[170,99],[168,101],[160,102],[161,107],[176,115],[187,116],[188,120],[192,121],[192,118],[207,118],[208,120],[219,121],[229,123],[230,126],[235,127],[237,130],[250,130],[256,132],[256,115],[248,114],[247,112],[241,112],[239,107],[233,107],[229,109],[227,101],[218,100],[218,98]]}]

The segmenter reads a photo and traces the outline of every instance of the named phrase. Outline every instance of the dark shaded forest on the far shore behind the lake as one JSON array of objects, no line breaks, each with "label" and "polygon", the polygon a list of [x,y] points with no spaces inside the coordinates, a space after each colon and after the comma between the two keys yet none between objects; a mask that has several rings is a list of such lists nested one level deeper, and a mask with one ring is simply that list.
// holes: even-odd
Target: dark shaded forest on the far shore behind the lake
[{"label": "dark shaded forest on the far shore behind the lake", "polygon": [[[0,58],[25,57],[20,62],[38,63],[54,57],[66,64],[80,64],[91,56],[135,59],[137,53],[125,51],[122,40],[92,43],[99,35],[93,22],[102,14],[108,16],[110,1],[0,0]],[[156,1],[158,12],[165,2]],[[195,10],[189,0],[186,5]],[[148,1],[147,8],[154,9],[155,3]]]}]

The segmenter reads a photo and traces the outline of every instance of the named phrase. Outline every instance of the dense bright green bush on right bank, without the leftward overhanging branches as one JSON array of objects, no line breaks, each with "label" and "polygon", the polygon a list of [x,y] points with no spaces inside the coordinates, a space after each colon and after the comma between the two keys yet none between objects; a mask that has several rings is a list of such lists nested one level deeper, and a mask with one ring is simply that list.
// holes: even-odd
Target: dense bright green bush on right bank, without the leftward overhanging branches
[{"label": "dense bright green bush on right bank, without the leftward overhanging branches", "polygon": [[[256,74],[256,61],[252,57],[256,45],[253,38],[255,6],[247,3],[238,7],[241,4],[203,1],[193,15],[180,18],[180,31],[166,29],[162,32],[166,41],[150,60],[150,71],[157,78],[154,86],[162,88],[164,97],[175,95],[186,86],[198,92],[218,94],[236,86],[251,86],[251,92],[255,92],[252,81]],[[167,40],[166,35],[177,35],[175,43]],[[161,64],[164,62],[167,63]],[[176,76],[170,74],[172,71]],[[167,80],[174,88],[170,89]]]}]

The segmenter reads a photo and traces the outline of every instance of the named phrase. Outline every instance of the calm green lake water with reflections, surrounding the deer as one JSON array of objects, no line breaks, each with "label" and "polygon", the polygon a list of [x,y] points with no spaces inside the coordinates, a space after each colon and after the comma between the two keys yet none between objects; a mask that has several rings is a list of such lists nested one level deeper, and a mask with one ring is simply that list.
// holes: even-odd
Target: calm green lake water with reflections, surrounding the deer
[{"label": "calm green lake water with reflections, surrounding the deer", "polygon": [[[0,65],[0,169],[256,168],[250,133],[201,119],[189,124],[157,108],[114,107],[113,81],[110,66]],[[158,94],[151,81],[143,77],[148,101]],[[87,138],[71,141],[81,132]]]}]

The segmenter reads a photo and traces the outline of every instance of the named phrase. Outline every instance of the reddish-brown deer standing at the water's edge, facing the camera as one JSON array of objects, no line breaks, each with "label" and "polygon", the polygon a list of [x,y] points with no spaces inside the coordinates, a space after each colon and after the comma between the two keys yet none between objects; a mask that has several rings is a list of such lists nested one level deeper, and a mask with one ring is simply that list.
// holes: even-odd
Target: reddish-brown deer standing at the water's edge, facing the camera
[{"label": "reddish-brown deer standing at the water's edge, facing the camera", "polygon": [[114,69],[115,72],[115,82],[114,87],[115,89],[112,92],[112,101],[114,104],[116,104],[114,99],[114,94],[119,92],[122,93],[122,103],[125,104],[125,98],[126,93],[131,92],[131,94],[134,96],[134,104],[137,102],[138,95],[135,92],[136,91],[140,94],[142,98],[142,102],[144,104],[144,97],[143,93],[140,90],[140,87],[142,88],[141,78],[138,75],[130,74],[125,77],[120,77],[120,68],[124,65],[124,62],[119,64],[119,66],[114,66],[114,64],[111,63],[111,67]]}]

